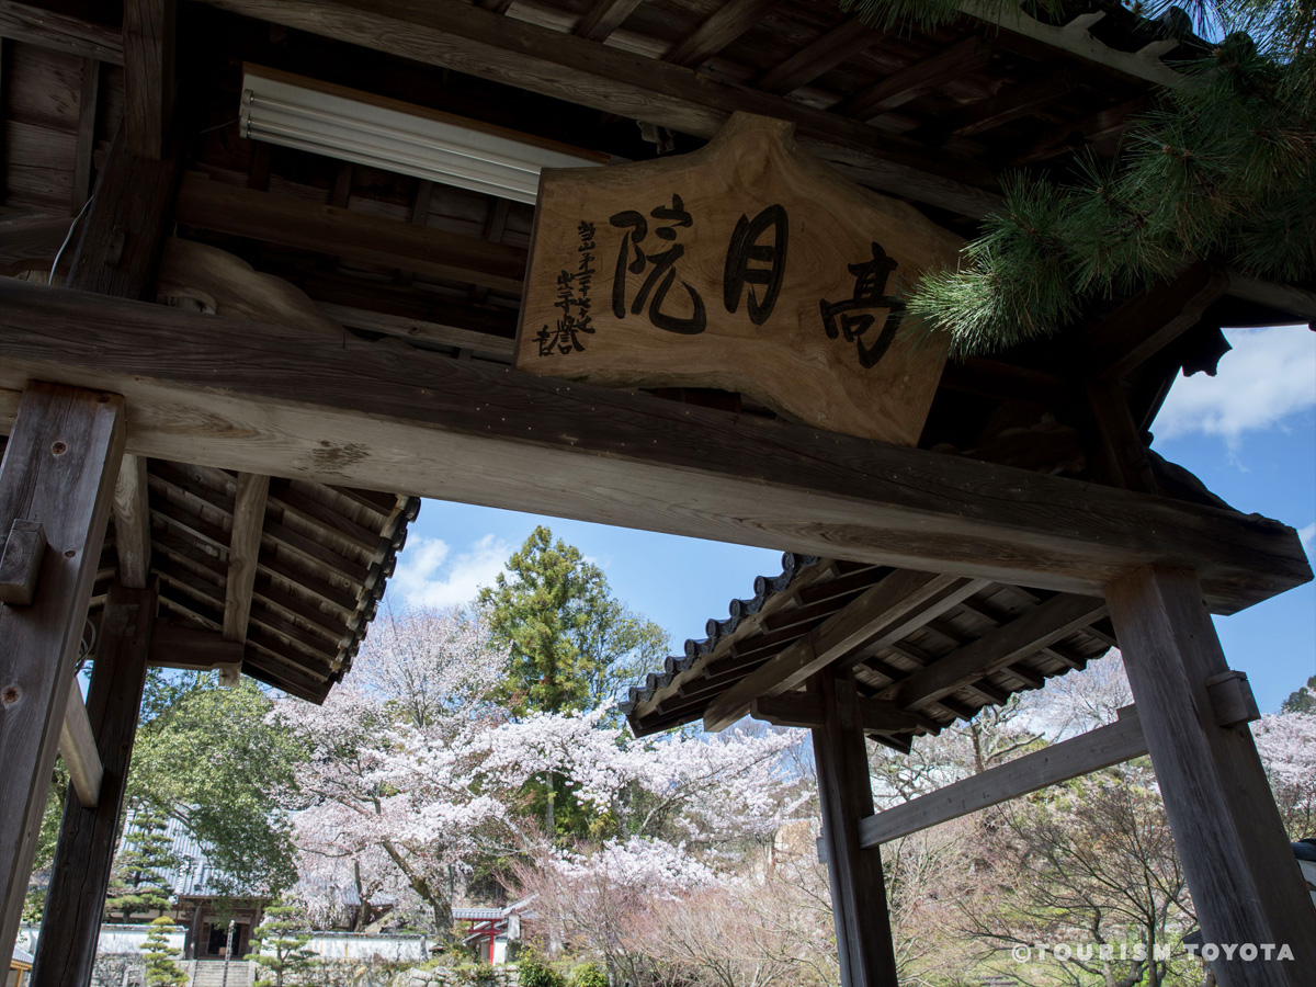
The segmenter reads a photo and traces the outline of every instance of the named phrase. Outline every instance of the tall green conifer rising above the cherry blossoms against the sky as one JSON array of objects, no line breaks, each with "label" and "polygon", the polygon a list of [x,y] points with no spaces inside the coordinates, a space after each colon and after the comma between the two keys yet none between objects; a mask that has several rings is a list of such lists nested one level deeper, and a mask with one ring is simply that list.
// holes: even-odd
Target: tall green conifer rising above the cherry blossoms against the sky
[{"label": "tall green conifer rising above the cherry blossoms against the sky", "polygon": [[503,697],[517,716],[591,709],[667,647],[661,628],[613,599],[597,566],[542,525],[507,570],[479,601],[511,651]]}]

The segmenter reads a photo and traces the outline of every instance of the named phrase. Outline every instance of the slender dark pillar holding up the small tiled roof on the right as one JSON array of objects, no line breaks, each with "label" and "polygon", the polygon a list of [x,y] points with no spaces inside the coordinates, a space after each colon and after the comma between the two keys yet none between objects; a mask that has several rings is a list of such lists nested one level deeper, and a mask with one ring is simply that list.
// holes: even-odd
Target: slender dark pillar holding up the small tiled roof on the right
[{"label": "slender dark pillar holding up the small tiled roof on the right", "polygon": [[859,696],[854,679],[837,675],[832,669],[820,671],[813,683],[822,697],[822,725],[812,732],[813,762],[819,775],[841,987],[896,987],[882,855],[876,846],[859,846],[859,820],[873,815]]}]

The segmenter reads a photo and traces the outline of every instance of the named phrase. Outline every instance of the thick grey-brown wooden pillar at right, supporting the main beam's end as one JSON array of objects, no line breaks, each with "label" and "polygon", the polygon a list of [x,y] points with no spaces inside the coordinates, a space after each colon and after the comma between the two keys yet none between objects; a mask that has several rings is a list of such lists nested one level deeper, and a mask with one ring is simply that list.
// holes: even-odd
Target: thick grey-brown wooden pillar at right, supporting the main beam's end
[{"label": "thick grey-brown wooden pillar at right, supporting the main beam's end", "polygon": [[[1207,942],[1253,944],[1212,967],[1220,987],[1300,987],[1316,970],[1307,896],[1246,722],[1212,701],[1228,671],[1194,572],[1145,566],[1105,590],[1148,750]],[[1265,944],[1273,958],[1265,959]],[[1278,959],[1287,945],[1292,959]]]}]

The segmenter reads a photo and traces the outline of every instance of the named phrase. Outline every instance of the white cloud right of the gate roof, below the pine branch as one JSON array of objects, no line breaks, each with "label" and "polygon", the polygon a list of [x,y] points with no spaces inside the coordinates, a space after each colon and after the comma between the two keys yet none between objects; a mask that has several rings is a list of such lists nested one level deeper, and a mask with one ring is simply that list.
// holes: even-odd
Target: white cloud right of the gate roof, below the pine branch
[{"label": "white cloud right of the gate roof, below the pine branch", "polygon": [[1152,426],[1158,440],[1200,433],[1237,449],[1244,433],[1316,408],[1316,333],[1302,326],[1233,329],[1233,351],[1211,378],[1174,382]]}]

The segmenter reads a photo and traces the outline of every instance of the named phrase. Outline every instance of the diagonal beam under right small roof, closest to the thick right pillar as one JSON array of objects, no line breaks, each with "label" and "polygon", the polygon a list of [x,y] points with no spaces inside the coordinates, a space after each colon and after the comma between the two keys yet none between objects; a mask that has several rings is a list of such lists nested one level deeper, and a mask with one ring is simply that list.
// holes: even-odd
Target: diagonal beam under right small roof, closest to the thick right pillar
[{"label": "diagonal beam under right small roof, closest to the thick right pillar", "polygon": [[891,688],[890,699],[905,709],[949,696],[962,686],[1034,654],[1105,616],[1105,600],[1053,596],[983,637],[912,672]]}]

